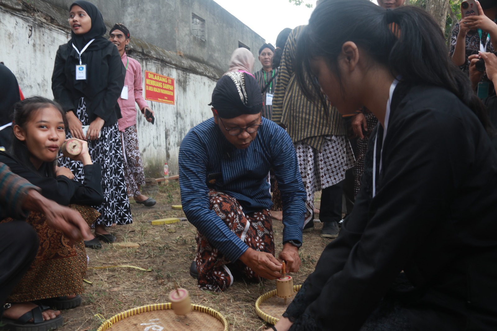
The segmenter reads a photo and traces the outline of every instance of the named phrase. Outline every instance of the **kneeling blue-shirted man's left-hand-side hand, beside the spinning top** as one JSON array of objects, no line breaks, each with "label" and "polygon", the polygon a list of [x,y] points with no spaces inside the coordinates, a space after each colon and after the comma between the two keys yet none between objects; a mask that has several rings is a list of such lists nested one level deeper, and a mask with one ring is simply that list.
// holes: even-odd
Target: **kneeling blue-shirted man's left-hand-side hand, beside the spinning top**
[{"label": "kneeling blue-shirted man's left-hand-side hand, beside the spinning top", "polygon": [[240,260],[260,277],[276,279],[281,276],[281,263],[269,253],[248,248]]}]

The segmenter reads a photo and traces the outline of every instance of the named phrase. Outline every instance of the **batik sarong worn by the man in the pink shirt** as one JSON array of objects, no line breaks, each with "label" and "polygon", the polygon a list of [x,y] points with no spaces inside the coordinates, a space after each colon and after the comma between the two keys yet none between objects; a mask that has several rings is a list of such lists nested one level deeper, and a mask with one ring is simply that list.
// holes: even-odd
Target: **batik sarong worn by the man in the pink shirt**
[{"label": "batik sarong worn by the man in the pink shirt", "polygon": [[124,155],[124,172],[129,196],[139,196],[138,185],[145,184],[145,173],[138,144],[136,125],[132,125],[121,132]]}]

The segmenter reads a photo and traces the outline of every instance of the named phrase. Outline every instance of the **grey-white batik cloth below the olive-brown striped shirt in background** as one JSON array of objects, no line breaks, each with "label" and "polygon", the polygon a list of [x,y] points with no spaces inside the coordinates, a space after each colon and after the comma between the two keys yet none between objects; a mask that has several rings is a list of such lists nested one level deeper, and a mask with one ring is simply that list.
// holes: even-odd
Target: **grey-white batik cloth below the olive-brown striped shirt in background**
[{"label": "grey-white batik cloth below the olive-brown striped shirt in background", "polygon": [[307,224],[314,211],[314,193],[345,179],[345,171],[355,164],[354,153],[345,136],[326,136],[321,152],[303,141],[294,145],[307,194]]}]

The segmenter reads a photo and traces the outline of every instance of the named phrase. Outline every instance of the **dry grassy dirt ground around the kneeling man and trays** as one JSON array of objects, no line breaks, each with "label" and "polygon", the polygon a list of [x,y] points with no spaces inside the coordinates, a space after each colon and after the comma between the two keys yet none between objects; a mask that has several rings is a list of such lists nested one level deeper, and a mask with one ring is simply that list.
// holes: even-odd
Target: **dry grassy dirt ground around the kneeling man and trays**
[{"label": "dry grassy dirt ground around the kneeling man and trays", "polygon": [[[94,331],[102,318],[108,319],[134,307],[169,302],[168,294],[174,288],[174,281],[189,291],[192,303],[219,311],[230,324],[230,330],[263,330],[265,323],[255,312],[255,300],[275,289],[275,282],[266,280],[253,284],[235,279],[233,286],[224,293],[200,290],[188,273],[195,256],[195,227],[187,221],[159,226],[150,224],[156,219],[184,217],[182,211],[170,207],[181,204],[178,181],[160,185],[154,198],[158,203],[152,208],[132,203],[132,225],[110,229],[117,242],[138,243],[139,248],[116,249],[103,244],[102,249],[87,250],[90,267],[133,265],[152,268],[152,271],[128,267],[88,269],[85,279],[92,284],[85,284],[83,304],[62,311],[65,325],[58,330]],[[317,208],[319,198],[318,193]],[[292,274],[294,285],[302,284],[314,270],[323,248],[330,243],[330,240],[320,237],[321,226],[316,223],[314,231],[304,234],[304,244],[299,250],[302,265],[298,273]],[[282,248],[282,223],[273,220],[273,229],[278,253]]]}]

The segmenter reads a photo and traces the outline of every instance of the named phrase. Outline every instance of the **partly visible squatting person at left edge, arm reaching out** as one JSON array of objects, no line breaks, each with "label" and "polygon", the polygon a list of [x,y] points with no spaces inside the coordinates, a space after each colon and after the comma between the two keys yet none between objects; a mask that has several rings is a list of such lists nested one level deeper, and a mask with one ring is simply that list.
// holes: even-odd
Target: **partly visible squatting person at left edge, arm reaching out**
[{"label": "partly visible squatting person at left edge, arm reaching out", "polygon": [[[90,234],[88,225],[78,212],[48,200],[39,190],[0,163],[0,221],[7,217],[25,219],[29,211],[33,210],[44,213],[47,223],[63,231],[71,240],[81,240],[82,234]],[[30,267],[38,248],[38,236],[28,223],[19,221],[0,224],[0,317],[4,309],[7,309],[4,318],[15,320],[23,316],[25,321],[34,319],[34,323],[55,319],[60,315],[59,311],[49,310],[49,307],[38,307],[39,313],[33,316],[35,309],[31,309],[37,306],[31,303],[4,306],[5,299]]]}]

